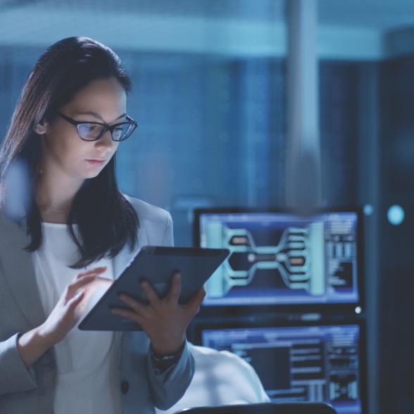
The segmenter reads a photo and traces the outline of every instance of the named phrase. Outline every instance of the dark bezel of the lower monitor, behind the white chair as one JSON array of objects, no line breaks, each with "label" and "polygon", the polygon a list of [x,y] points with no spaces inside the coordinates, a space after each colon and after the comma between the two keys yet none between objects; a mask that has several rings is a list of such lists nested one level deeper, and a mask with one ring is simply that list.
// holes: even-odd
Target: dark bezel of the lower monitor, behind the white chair
[{"label": "dark bezel of the lower monitor, behind the white chair", "polygon": [[278,322],[269,323],[268,321],[251,323],[249,320],[203,320],[196,323],[192,327],[192,342],[195,345],[203,346],[202,344],[202,332],[203,330],[237,330],[237,329],[274,329],[280,327],[324,327],[324,326],[346,326],[357,325],[359,327],[359,390],[360,390],[360,405],[361,413],[367,413],[368,411],[368,389],[367,389],[367,349],[366,349],[366,322],[363,318],[349,319],[343,318],[338,320],[332,320],[324,318],[321,320],[297,320],[287,321],[280,320]]}]

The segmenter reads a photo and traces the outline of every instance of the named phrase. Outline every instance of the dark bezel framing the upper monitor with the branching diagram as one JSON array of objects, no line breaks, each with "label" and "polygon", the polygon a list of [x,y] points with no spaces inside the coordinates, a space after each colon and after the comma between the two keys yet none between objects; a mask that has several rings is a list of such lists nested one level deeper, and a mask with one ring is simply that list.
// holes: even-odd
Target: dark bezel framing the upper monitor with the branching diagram
[{"label": "dark bezel framing the upper monitor with the branching diagram", "polygon": [[[356,207],[320,207],[313,208],[311,211],[304,211],[298,208],[242,208],[242,207],[215,207],[215,208],[195,208],[194,209],[194,222],[193,222],[193,245],[200,247],[200,216],[203,214],[232,214],[232,213],[281,213],[281,214],[299,214],[299,215],[315,215],[323,213],[356,213],[356,242],[357,242],[357,287],[358,287],[358,301],[348,303],[291,303],[291,304],[217,304],[208,305],[201,308],[201,313],[208,313],[213,315],[215,308],[220,308],[221,312],[234,313],[237,308],[248,308],[249,311],[255,309],[266,308],[268,311],[291,311],[292,308],[295,311],[306,312],[327,312],[332,311],[334,313],[344,312],[349,314],[363,314],[365,310],[365,298],[364,298],[364,261],[363,261],[363,208]],[[356,311],[358,309],[358,312]],[[237,312],[237,311],[236,311]],[[243,313],[242,313],[243,314]]]}]

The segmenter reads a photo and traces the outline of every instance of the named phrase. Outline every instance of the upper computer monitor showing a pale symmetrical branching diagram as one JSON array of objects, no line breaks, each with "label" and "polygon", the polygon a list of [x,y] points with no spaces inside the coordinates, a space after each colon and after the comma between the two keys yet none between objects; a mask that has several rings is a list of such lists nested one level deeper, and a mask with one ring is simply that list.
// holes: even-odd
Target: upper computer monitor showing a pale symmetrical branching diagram
[{"label": "upper computer monitor showing a pale symmetrical branching diagram", "polygon": [[194,244],[230,249],[203,305],[360,306],[360,228],[359,210],[197,209]]}]

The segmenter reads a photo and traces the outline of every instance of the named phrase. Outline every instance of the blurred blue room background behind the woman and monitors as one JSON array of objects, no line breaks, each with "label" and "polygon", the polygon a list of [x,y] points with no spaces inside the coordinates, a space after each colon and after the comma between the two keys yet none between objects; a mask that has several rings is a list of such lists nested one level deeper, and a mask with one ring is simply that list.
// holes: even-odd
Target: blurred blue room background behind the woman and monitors
[{"label": "blurred blue room background behind the woman and monitors", "polygon": [[0,0],[0,137],[37,58],[74,35],[132,78],[118,182],[170,211],[176,246],[199,244],[196,208],[358,211],[357,306],[306,314],[363,323],[353,380],[336,382],[359,402],[339,413],[414,412],[414,2]]}]

